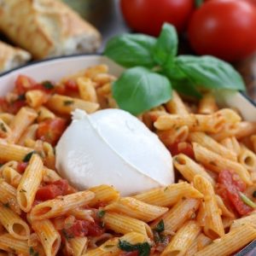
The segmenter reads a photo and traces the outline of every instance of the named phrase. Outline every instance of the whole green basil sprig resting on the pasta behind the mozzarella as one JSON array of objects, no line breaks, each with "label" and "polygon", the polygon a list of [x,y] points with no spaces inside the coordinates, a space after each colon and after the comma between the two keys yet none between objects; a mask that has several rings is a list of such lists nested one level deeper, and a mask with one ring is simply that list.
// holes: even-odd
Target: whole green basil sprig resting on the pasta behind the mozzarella
[{"label": "whole green basil sprig resting on the pasta behind the mozzarella", "polygon": [[172,99],[172,89],[201,97],[201,89],[245,90],[241,75],[215,57],[177,56],[177,32],[164,24],[159,38],[123,34],[108,41],[104,54],[129,67],[113,82],[113,98],[130,113],[139,114]]}]

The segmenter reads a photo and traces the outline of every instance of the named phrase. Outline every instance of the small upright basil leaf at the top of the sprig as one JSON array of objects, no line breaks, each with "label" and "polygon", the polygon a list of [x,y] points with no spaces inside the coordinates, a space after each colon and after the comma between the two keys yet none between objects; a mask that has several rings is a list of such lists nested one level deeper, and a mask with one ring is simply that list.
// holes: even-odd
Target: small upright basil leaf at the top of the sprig
[{"label": "small upright basil leaf at the top of the sprig", "polygon": [[154,46],[154,61],[160,65],[168,65],[177,55],[177,32],[175,27],[165,23],[162,26],[160,37]]}]

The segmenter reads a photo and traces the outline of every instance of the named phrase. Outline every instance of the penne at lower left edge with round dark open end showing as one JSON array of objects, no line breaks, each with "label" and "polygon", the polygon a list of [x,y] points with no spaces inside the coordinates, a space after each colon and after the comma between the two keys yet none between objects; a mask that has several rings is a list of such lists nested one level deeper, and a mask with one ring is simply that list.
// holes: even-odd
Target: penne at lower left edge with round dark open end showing
[{"label": "penne at lower left edge with round dark open end showing", "polygon": [[0,223],[16,239],[27,240],[30,235],[28,224],[8,204],[0,204]]}]

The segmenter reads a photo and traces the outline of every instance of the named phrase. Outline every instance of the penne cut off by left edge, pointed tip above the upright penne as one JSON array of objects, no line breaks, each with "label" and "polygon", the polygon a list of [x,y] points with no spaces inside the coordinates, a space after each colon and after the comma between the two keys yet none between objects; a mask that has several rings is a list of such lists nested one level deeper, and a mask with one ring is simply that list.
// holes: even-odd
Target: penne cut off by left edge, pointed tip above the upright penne
[{"label": "penne cut off by left edge, pointed tip above the upright penne", "polygon": [[21,162],[26,154],[29,154],[32,151],[32,148],[26,148],[0,140],[0,162],[8,162],[11,160]]}]

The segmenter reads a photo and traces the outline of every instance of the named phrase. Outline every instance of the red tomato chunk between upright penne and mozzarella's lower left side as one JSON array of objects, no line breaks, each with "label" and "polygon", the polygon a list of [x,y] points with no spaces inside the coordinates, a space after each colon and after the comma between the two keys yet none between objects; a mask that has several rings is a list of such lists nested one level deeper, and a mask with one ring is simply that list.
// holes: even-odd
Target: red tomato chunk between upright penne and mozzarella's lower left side
[{"label": "red tomato chunk between upright penne and mozzarella's lower left side", "polygon": [[46,201],[55,199],[58,195],[67,195],[68,183],[67,180],[61,179],[39,188],[36,195],[36,200]]}]

